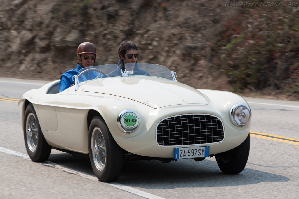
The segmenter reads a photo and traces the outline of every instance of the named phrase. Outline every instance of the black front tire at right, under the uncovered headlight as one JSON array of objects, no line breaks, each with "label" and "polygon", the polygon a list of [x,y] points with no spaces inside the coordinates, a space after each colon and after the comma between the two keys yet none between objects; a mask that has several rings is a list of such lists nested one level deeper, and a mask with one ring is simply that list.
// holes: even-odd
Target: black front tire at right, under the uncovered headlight
[{"label": "black front tire at right, under the uncovered headlight", "polygon": [[245,141],[236,148],[215,154],[220,170],[226,174],[238,174],[242,172],[248,160],[249,149],[250,136],[248,134]]}]

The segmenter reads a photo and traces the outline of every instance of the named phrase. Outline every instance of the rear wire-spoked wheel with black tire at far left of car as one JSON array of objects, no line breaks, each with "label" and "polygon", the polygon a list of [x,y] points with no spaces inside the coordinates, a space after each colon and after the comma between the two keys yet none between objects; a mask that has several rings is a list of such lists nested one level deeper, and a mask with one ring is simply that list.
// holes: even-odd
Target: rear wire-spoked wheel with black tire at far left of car
[{"label": "rear wire-spoked wheel with black tire at far left of car", "polygon": [[32,104],[28,104],[24,115],[24,141],[27,153],[33,162],[48,160],[52,147],[47,143]]}]

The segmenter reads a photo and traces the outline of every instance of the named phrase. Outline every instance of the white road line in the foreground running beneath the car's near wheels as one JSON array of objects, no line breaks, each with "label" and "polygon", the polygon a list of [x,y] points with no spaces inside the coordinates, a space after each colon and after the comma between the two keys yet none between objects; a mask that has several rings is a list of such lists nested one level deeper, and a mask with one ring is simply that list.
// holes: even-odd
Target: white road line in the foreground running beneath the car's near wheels
[{"label": "white road line in the foreground running beneath the car's near wheels", "polygon": [[[0,146],[0,152],[6,153],[6,154],[9,154],[9,155],[14,155],[14,156],[19,157],[19,158],[24,158],[24,159],[30,160],[29,156],[26,155],[26,154],[23,154],[23,153],[20,153],[20,152],[16,152],[16,151],[13,151],[13,150],[10,150],[10,149],[6,149],[6,148],[3,148],[1,146]],[[132,194],[144,197],[144,198],[149,198],[149,199],[164,199],[162,197],[159,197],[159,196],[156,196],[156,195],[153,195],[153,194],[150,194],[150,193],[147,193],[147,192],[144,192],[144,191],[141,191],[141,190],[138,190],[138,189],[135,189],[135,188],[132,188],[132,187],[120,184],[120,183],[115,183],[115,182],[112,182],[112,183],[100,182],[95,175],[90,175],[90,174],[78,171],[76,169],[69,169],[69,168],[67,168],[65,166],[61,166],[59,164],[56,164],[56,163],[53,163],[53,162],[50,162],[50,161],[45,161],[42,164],[45,165],[45,166],[51,166],[53,168],[60,169],[60,170],[62,170],[64,172],[67,172],[67,173],[79,175],[79,176],[81,176],[83,178],[87,178],[87,179],[90,179],[90,180],[93,180],[93,181],[97,181],[98,183],[103,183],[105,185],[110,185],[110,186],[113,186],[113,187],[115,187],[117,189],[121,189],[123,191],[129,192],[129,193],[132,193]]]}]

